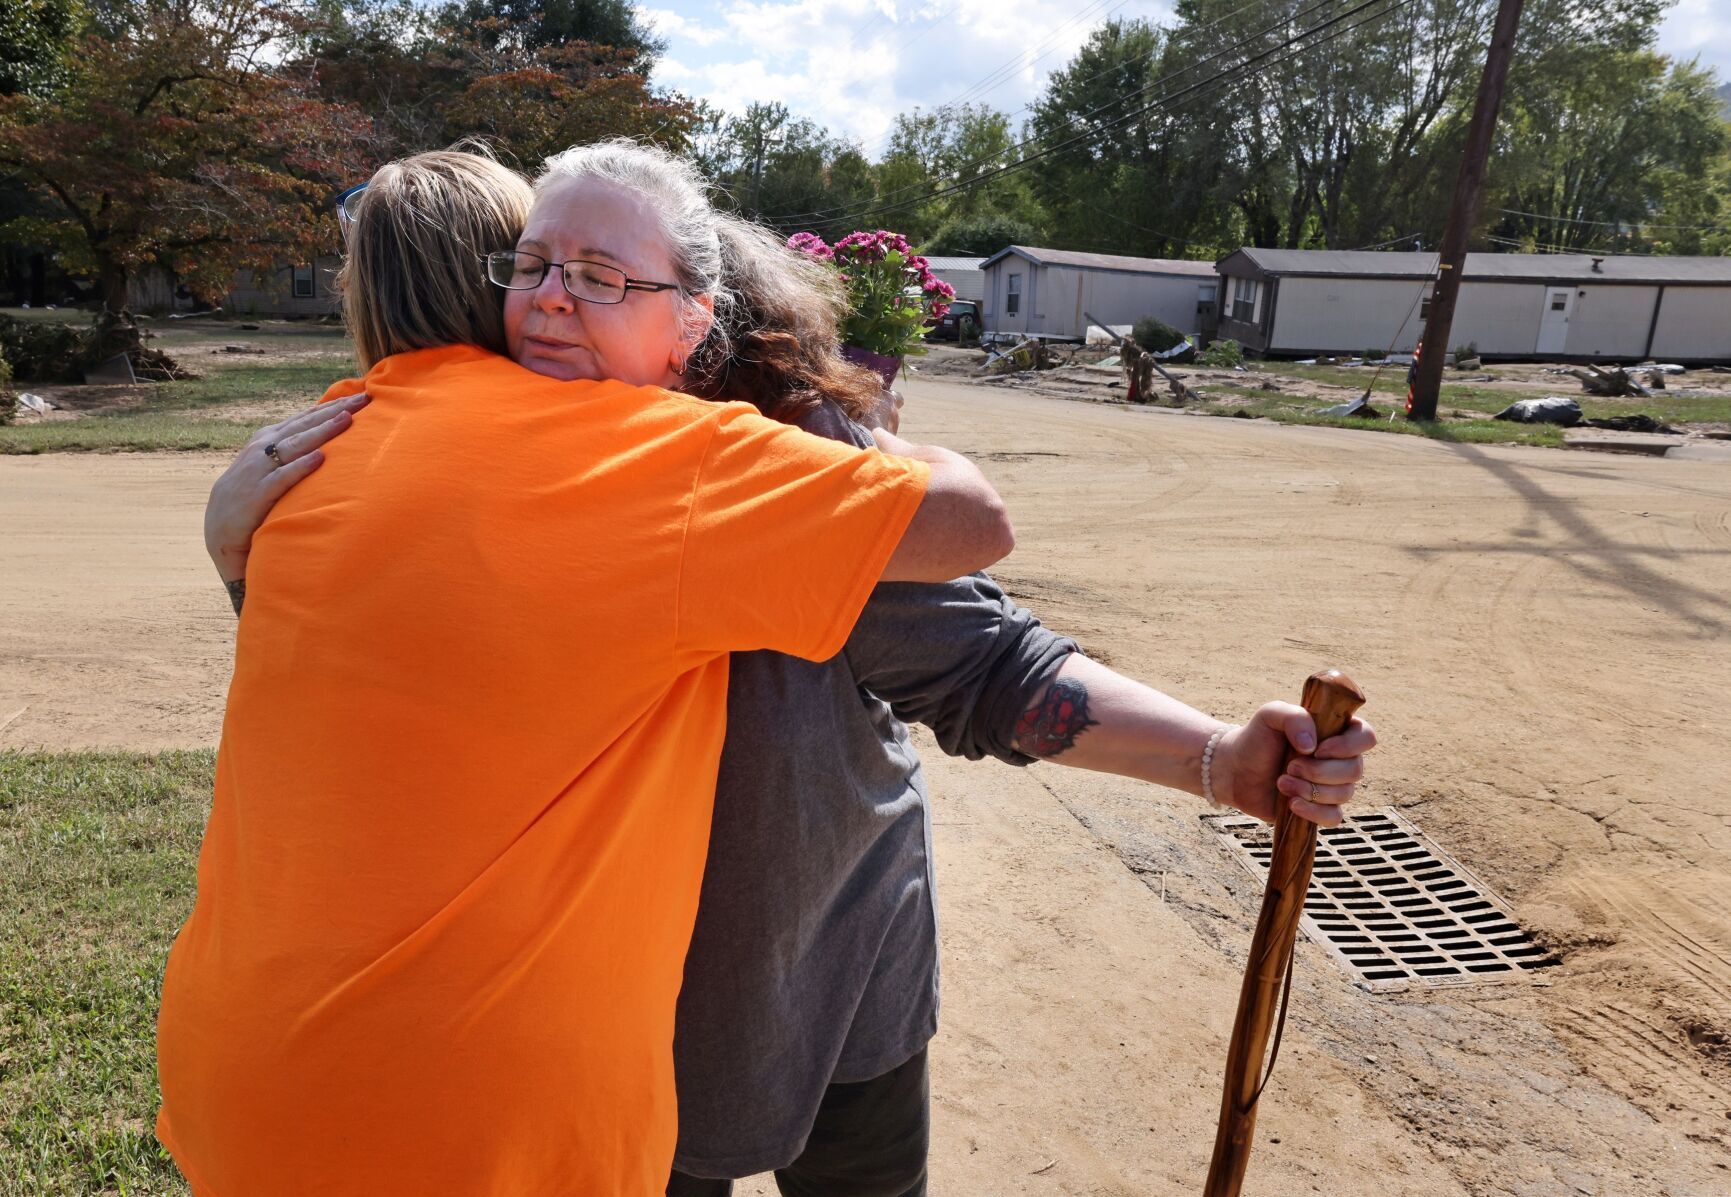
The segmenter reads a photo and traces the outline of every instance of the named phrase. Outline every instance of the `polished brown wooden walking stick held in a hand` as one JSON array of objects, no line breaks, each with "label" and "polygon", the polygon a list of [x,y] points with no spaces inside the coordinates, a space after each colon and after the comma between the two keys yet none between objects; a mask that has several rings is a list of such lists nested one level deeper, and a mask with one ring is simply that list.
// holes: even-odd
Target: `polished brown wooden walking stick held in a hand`
[{"label": "polished brown wooden walking stick held in a hand", "polygon": [[[1312,673],[1303,683],[1303,709],[1316,720],[1316,742],[1347,730],[1352,713],[1364,706],[1364,690],[1340,669]],[[1295,752],[1288,754],[1288,759]],[[1257,1098],[1274,1071],[1286,1027],[1286,1002],[1291,998],[1293,939],[1310,889],[1310,865],[1316,860],[1316,823],[1298,818],[1284,796],[1277,796],[1274,815],[1274,858],[1269,861],[1269,889],[1257,915],[1257,934],[1250,939],[1245,986],[1238,993],[1238,1017],[1232,1021],[1232,1047],[1226,1057],[1226,1093],[1220,1098],[1220,1128],[1213,1138],[1205,1197],[1238,1197],[1250,1164],[1250,1145],[1257,1130]],[[1274,1024],[1276,998],[1279,1024],[1274,1026],[1274,1050],[1269,1053],[1269,1027]],[[1264,1071],[1262,1057],[1269,1055]]]}]

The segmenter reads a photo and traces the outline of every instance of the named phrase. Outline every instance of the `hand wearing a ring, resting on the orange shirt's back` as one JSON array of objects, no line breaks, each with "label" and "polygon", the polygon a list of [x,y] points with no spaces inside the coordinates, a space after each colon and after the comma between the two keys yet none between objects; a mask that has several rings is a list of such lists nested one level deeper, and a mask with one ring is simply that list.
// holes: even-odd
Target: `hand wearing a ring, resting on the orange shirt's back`
[{"label": "hand wearing a ring, resting on the orange shirt's back", "polygon": [[324,464],[320,448],[341,436],[367,394],[320,403],[253,432],[204,503],[204,548],[223,581],[246,576],[253,533],[277,500]]}]

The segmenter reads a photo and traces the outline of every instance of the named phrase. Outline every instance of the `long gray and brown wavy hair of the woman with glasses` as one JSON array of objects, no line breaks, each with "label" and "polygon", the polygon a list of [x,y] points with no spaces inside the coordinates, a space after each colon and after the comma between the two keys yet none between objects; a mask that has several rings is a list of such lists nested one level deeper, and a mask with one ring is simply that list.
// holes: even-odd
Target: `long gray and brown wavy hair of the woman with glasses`
[{"label": "long gray and brown wavy hair of the woman with glasses", "polygon": [[[654,145],[628,138],[573,145],[547,159],[535,190],[582,178],[649,199],[661,221],[682,289],[680,322],[698,341],[682,391],[743,400],[789,424],[820,400],[852,419],[878,403],[878,375],[840,356],[846,294],[834,270],[788,249],[779,234],[718,211],[703,173]],[[713,320],[692,296],[710,298]]]}]

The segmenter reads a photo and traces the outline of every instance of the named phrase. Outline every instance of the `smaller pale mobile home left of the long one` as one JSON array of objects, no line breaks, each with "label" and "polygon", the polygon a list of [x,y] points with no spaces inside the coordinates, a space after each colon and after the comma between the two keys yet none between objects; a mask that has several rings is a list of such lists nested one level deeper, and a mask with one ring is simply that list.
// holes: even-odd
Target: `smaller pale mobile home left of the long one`
[{"label": "smaller pale mobile home left of the long one", "polygon": [[1179,332],[1212,334],[1220,280],[1213,263],[1122,258],[1011,246],[985,259],[988,336],[1087,337],[1087,318],[1130,325],[1158,317]]}]

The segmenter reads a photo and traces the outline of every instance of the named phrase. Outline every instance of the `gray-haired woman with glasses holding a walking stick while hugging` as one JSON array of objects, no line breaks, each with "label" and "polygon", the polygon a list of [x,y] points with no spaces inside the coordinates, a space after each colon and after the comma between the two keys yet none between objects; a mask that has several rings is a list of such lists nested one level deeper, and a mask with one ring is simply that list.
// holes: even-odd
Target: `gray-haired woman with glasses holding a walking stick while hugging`
[{"label": "gray-haired woman with glasses holding a walking stick while hugging", "polygon": [[[604,287],[628,287],[634,256],[651,247],[670,256],[679,294],[611,303]],[[879,382],[838,355],[834,275],[715,211],[689,163],[628,142],[552,157],[516,253],[495,254],[492,277],[505,289],[511,353],[531,370],[646,381],[666,368],[687,393],[872,443],[862,424]],[[658,346],[713,315],[689,353],[623,336],[634,301],[663,298]],[[213,496],[234,543],[258,522],[242,491]],[[1262,818],[1291,801],[1317,822],[1338,822],[1373,744],[1355,725],[1319,747],[1290,704],[1264,706],[1246,727],[1219,723],[1080,656],[985,574],[878,586],[824,663],[734,654],[675,1021],[668,1194],[720,1195],[762,1171],[784,1194],[924,1192],[938,955],[912,721],[971,759],[1116,771]],[[1283,773],[1288,742],[1316,759]]]}]

